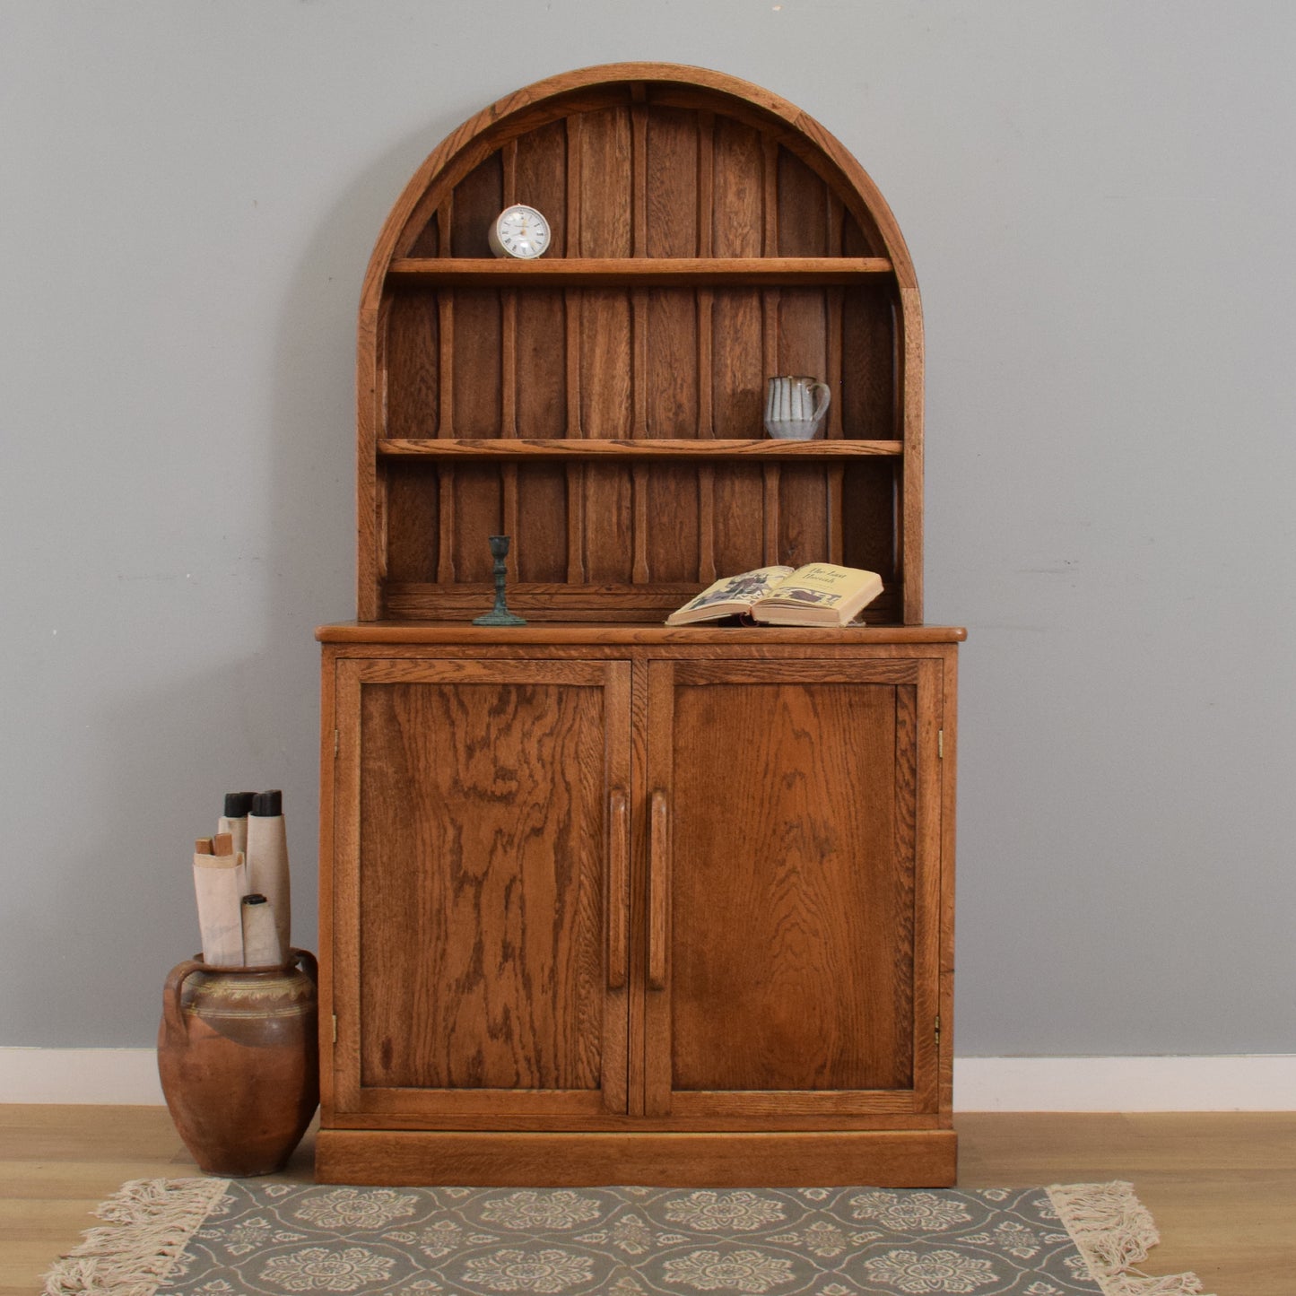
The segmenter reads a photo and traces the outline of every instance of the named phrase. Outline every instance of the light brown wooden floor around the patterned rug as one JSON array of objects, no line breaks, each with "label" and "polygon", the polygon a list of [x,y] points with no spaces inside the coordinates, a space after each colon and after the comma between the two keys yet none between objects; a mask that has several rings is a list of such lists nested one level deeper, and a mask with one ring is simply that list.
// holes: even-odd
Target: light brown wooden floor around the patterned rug
[{"label": "light brown wooden floor around the patterned rug", "polygon": [[[1148,1273],[1192,1269],[1216,1296],[1296,1296],[1296,1112],[956,1125],[962,1185],[1130,1179],[1161,1230]],[[0,1296],[39,1292],[126,1179],[193,1173],[166,1108],[0,1105]],[[283,1177],[310,1181],[310,1135]]]}]

